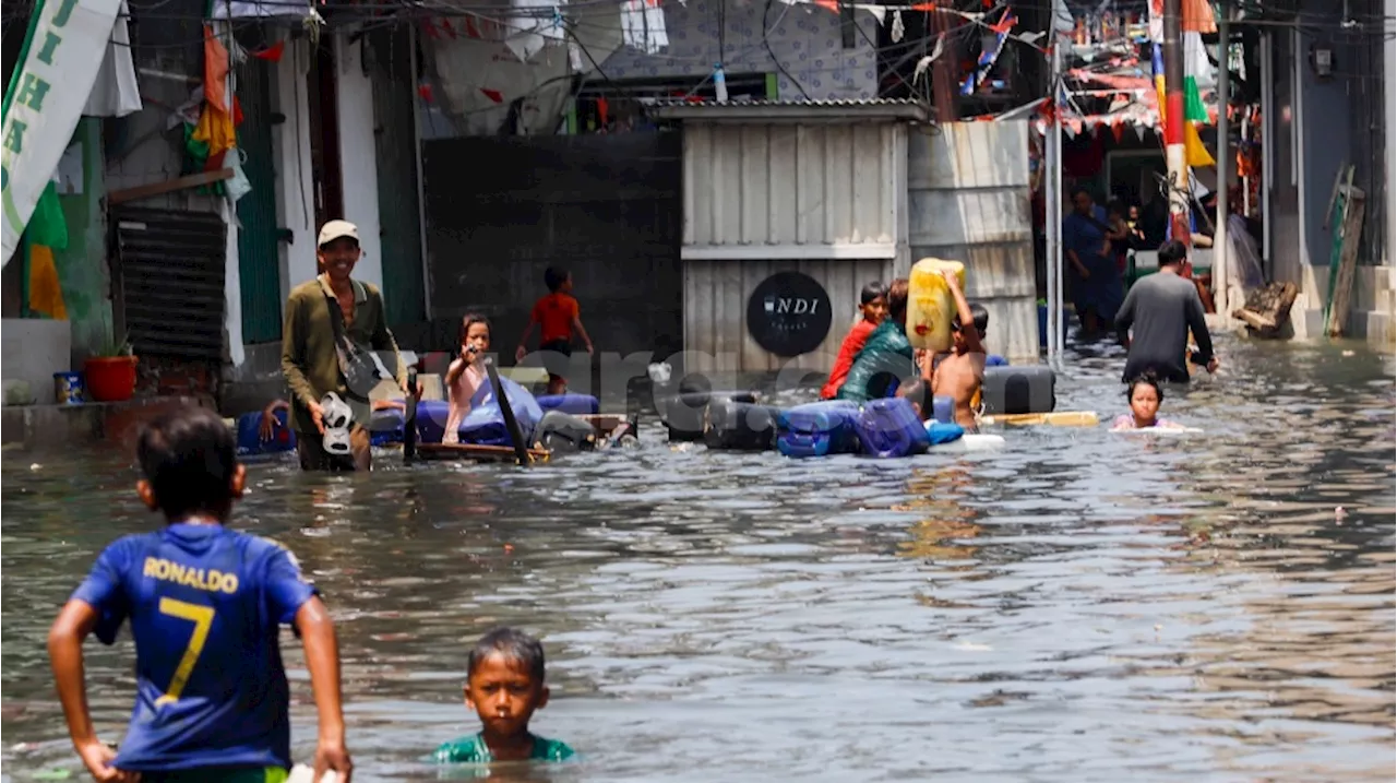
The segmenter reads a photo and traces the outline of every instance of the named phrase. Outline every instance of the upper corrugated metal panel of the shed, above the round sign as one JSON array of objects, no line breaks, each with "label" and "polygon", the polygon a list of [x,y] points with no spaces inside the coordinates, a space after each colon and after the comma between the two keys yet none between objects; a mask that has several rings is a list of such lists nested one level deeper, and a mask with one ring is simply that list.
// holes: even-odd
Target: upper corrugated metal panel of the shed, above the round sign
[{"label": "upper corrugated metal panel of the shed, above the round sign", "polygon": [[905,124],[685,123],[686,259],[893,256],[905,193]]}]

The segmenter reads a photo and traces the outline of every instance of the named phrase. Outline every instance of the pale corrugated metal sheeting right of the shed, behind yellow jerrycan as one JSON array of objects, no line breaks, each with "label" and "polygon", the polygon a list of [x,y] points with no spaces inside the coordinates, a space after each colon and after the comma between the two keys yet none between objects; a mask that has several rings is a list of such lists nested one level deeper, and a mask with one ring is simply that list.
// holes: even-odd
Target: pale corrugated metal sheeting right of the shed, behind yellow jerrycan
[{"label": "pale corrugated metal sheeting right of the shed, behind yellow jerrycan", "polygon": [[1037,359],[1028,123],[914,130],[908,161],[912,260],[964,263],[967,298],[989,310],[989,351]]}]

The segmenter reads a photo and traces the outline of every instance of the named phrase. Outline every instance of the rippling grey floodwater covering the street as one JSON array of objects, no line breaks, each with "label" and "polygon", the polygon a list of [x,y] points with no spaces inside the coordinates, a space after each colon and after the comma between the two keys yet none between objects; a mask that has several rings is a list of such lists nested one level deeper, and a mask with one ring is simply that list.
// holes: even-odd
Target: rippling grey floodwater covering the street
[{"label": "rippling grey floodwater covering the street", "polygon": [[[549,654],[535,731],[584,762],[499,780],[1390,782],[1397,372],[1356,344],[1220,355],[1161,408],[1207,436],[1109,433],[1112,348],[1058,380],[1101,426],[1002,452],[791,461],[648,419],[637,450],[531,471],[258,464],[236,526],[335,615],[355,780],[437,779],[420,758],[478,730],[469,645],[511,624]],[[87,779],[45,633],[103,545],[158,524],[124,454],[43,460],[0,453],[0,780]],[[117,741],[130,635],[87,652]]]}]

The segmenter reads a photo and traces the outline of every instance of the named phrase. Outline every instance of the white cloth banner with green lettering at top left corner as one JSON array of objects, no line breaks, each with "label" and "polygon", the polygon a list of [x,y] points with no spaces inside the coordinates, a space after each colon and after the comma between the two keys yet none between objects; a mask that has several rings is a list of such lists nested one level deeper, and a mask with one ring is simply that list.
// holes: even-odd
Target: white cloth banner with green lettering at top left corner
[{"label": "white cloth banner with green lettering at top left corner", "polygon": [[0,268],[92,94],[122,0],[41,0],[0,124]]}]

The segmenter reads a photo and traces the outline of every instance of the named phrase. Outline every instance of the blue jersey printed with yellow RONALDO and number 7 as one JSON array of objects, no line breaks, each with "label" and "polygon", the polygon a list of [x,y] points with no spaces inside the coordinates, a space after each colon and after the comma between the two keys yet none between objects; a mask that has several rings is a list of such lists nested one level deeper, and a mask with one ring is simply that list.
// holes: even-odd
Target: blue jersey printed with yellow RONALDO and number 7
[{"label": "blue jersey printed with yellow RONALDO and number 7", "polygon": [[105,645],[131,621],[136,709],[115,766],[291,768],[281,624],[316,594],[274,541],[176,523],[108,547],[73,594]]}]

